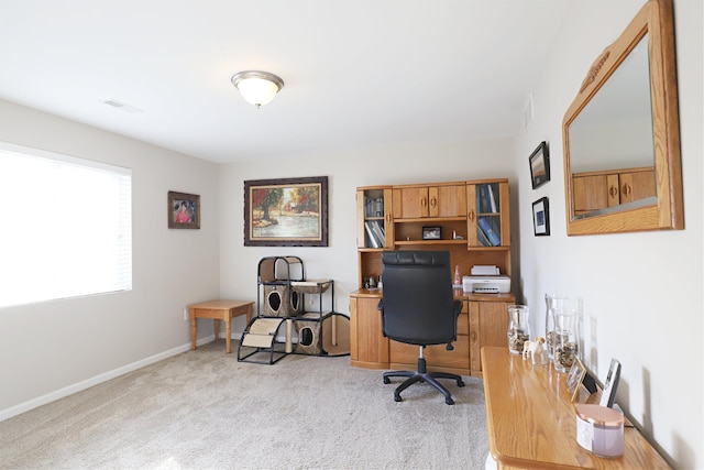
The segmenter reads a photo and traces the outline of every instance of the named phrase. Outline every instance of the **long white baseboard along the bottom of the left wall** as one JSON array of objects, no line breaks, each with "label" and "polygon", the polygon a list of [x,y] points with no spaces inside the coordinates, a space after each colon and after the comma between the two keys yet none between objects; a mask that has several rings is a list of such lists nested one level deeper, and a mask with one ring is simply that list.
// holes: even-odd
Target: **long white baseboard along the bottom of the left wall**
[{"label": "long white baseboard along the bottom of the left wall", "polygon": [[[234,338],[235,335],[233,335],[232,337]],[[207,342],[211,342],[213,340],[215,340],[215,335],[210,335],[208,337],[201,338],[198,341],[196,341],[196,346],[201,346]],[[107,382],[111,379],[123,375],[128,372],[135,371],[145,365],[153,364],[154,362],[158,362],[164,359],[170,358],[172,356],[180,354],[182,352],[186,352],[188,350],[190,350],[190,341],[186,345],[182,345],[174,349],[160,352],[158,354],[154,354],[148,358],[141,359],[136,362],[132,362],[131,364],[123,365],[121,368],[80,381],[73,385],[65,386],[63,389],[56,390],[54,392],[30,400],[28,402],[20,403],[19,405],[15,405],[6,409],[0,409],[0,422],[4,419],[9,419],[16,415],[21,415],[22,413],[29,412],[30,409],[34,409],[47,403],[55,402],[56,400],[64,398],[68,395],[73,395],[74,393],[84,391],[99,383]]]}]

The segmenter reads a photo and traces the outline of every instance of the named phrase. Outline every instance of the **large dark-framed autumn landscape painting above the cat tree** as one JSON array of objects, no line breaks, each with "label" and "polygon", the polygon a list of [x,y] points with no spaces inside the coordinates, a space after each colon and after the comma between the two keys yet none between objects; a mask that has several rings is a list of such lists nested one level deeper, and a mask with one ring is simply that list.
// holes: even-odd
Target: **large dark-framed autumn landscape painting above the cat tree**
[{"label": "large dark-framed autumn landscape painting above the cat tree", "polygon": [[328,177],[244,182],[245,247],[327,247]]}]

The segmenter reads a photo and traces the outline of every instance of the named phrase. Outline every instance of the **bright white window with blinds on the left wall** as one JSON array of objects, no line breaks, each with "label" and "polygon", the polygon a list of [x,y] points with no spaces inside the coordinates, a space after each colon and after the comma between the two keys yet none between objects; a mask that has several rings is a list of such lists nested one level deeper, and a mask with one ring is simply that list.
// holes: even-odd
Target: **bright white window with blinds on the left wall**
[{"label": "bright white window with blinds on the left wall", "polygon": [[0,307],[132,289],[128,168],[0,142]]}]

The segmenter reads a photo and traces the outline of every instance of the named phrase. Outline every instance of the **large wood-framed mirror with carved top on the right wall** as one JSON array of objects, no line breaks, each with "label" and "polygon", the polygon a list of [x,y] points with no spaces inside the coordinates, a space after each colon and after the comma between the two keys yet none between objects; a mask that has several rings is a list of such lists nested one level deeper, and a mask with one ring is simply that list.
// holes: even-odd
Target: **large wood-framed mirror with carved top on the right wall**
[{"label": "large wood-framed mirror with carved top on the right wall", "polygon": [[649,0],[564,114],[568,234],[683,229],[672,0]]}]

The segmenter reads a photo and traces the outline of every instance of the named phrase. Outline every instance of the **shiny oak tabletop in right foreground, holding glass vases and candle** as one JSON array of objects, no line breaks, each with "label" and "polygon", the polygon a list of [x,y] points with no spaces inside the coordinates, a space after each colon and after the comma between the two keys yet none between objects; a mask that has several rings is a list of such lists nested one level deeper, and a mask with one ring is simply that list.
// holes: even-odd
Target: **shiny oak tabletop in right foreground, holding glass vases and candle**
[{"label": "shiny oak tabletop in right foreground, holding glass vases and candle", "polygon": [[534,365],[508,348],[482,348],[486,427],[499,469],[668,469],[634,427],[624,430],[624,455],[600,458],[576,444],[574,404],[566,374]]}]

